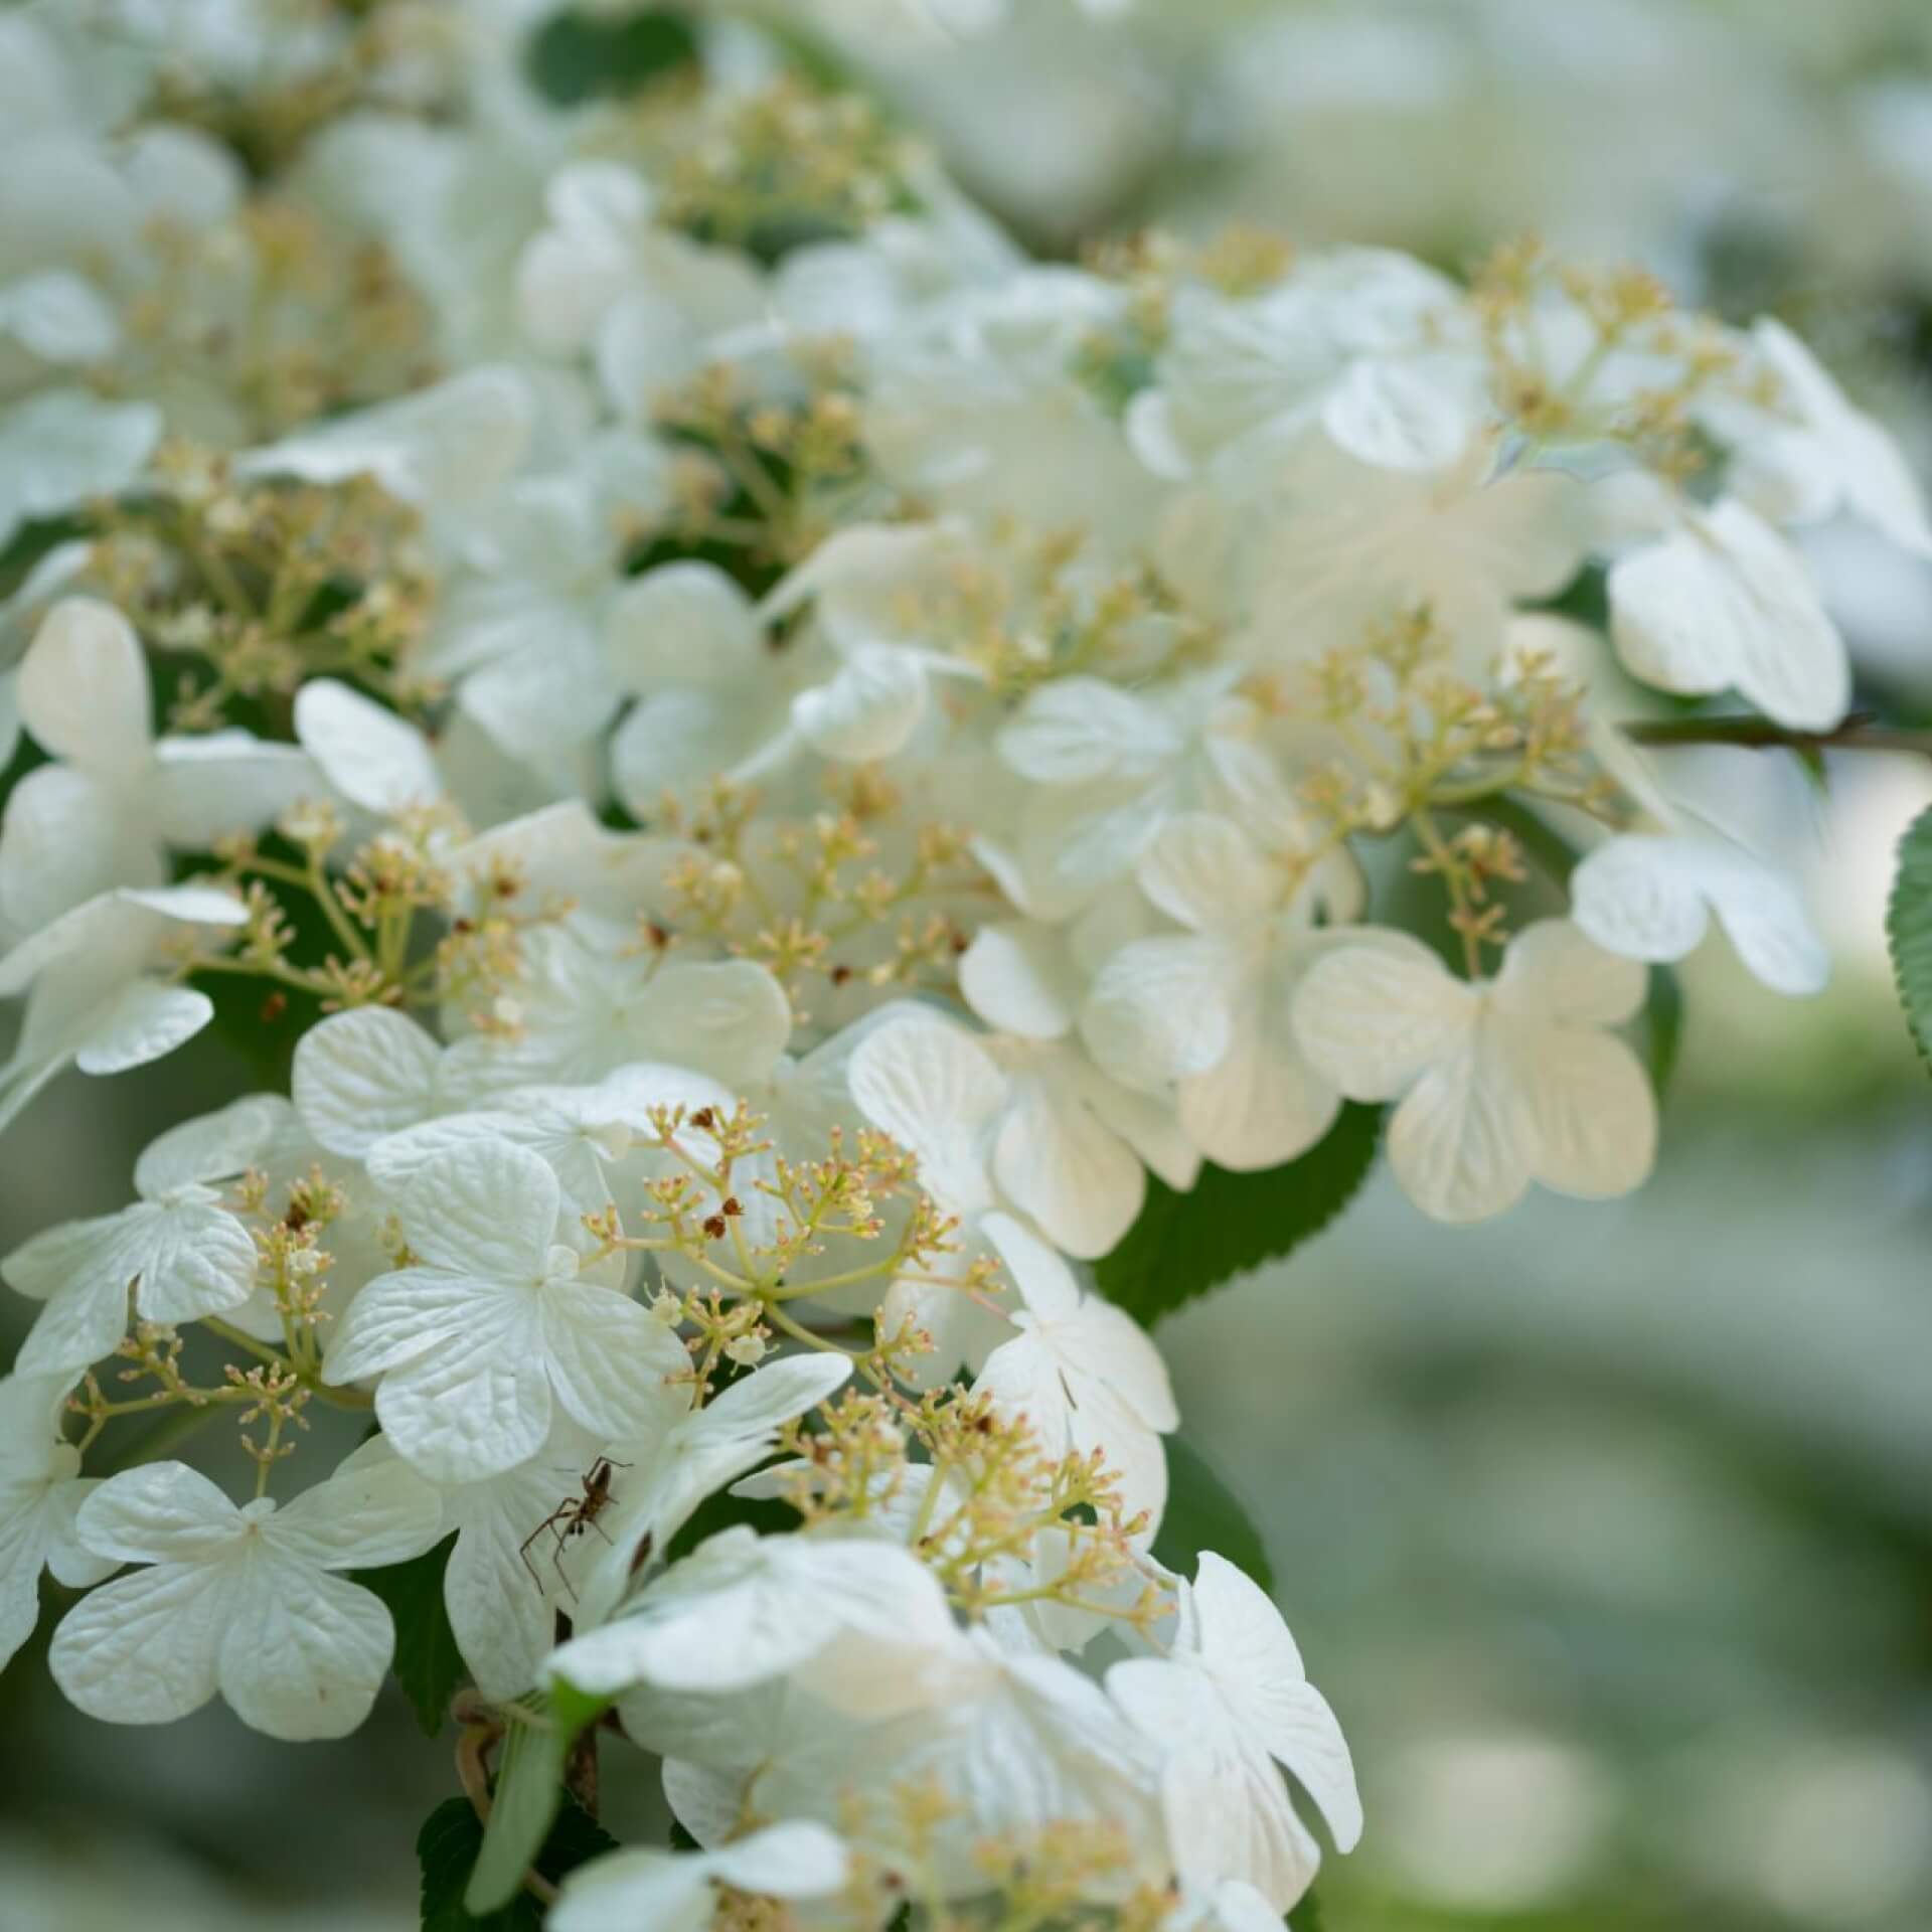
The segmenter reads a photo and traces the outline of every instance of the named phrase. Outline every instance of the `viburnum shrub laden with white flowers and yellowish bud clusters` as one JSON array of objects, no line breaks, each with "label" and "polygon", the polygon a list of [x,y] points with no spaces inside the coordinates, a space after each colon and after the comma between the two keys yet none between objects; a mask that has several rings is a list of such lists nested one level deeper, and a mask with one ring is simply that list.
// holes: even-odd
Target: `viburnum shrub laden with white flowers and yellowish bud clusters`
[{"label": "viburnum shrub laden with white flowers and yellowish bud clusters", "polygon": [[1714,923],[1822,985],[1642,746],[1841,726],[1891,442],[1534,245],[1028,261],[717,12],[91,12],[0,19],[0,1117],[265,1084],[0,1264],[0,1652],[394,1667],[435,1924],[1279,1924],[1354,1772],[1146,1327],[1378,1148],[1640,1186]]}]

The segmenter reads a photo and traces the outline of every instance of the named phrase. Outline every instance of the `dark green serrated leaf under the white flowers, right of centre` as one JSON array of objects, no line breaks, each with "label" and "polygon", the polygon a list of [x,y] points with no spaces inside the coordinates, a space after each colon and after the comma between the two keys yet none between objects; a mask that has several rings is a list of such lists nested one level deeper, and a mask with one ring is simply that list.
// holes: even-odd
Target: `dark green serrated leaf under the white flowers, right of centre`
[{"label": "dark green serrated leaf under the white flowers, right of centre", "polygon": [[1101,1289],[1151,1327],[1209,1289],[1293,1254],[1349,1206],[1376,1163],[1381,1109],[1343,1107],[1298,1161],[1264,1175],[1204,1167],[1186,1194],[1150,1177],[1148,1204],[1097,1267]]}]

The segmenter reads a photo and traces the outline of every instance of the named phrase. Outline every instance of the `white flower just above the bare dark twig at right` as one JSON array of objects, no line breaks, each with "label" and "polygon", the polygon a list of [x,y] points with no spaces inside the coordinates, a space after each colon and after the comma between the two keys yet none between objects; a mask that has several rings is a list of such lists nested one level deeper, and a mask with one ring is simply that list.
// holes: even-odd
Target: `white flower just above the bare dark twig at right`
[{"label": "white flower just above the bare dark twig at right", "polygon": [[1737,690],[1791,730],[1832,730],[1851,701],[1845,639],[1804,560],[1727,497],[1609,570],[1609,622],[1633,676],[1663,692]]}]

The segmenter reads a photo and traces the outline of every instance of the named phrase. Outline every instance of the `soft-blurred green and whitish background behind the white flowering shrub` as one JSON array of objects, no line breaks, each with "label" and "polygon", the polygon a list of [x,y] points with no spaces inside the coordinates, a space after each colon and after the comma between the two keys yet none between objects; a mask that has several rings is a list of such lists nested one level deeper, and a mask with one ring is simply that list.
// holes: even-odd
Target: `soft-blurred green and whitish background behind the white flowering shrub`
[{"label": "soft-blurred green and whitish background behind the white flowering shrub", "polygon": [[[1783,315],[1932,468],[1926,0],[792,12],[1043,251],[1238,216],[1464,267],[1534,228]],[[1814,562],[1861,701],[1926,723],[1928,572],[1841,533]],[[1633,1200],[1443,1231],[1372,1184],[1163,1331],[1362,1768],[1331,1932],[1932,1926],[1932,1086],[1882,947],[1932,761],[1841,755],[1818,786],[1689,757],[1671,781],[1806,856],[1832,989],[1762,995],[1721,941],[1692,962]],[[203,1041],[60,1082],[8,1140],[0,1250],[122,1206],[139,1146],[240,1080]],[[21,1316],[0,1302],[0,1352]],[[4,1932],[129,1901],[166,1932],[415,1924],[413,1824],[452,1785],[400,1698],[299,1750],[218,1708],[108,1729],[39,1648],[0,1679]]]}]

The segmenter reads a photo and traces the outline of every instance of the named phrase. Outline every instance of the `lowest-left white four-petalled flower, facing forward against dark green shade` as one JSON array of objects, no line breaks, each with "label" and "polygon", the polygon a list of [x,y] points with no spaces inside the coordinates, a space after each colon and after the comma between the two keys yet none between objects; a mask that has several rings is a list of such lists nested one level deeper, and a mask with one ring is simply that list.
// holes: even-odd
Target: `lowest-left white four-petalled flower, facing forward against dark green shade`
[{"label": "lowest-left white four-petalled flower, facing forward against dark green shade", "polygon": [[435,1492],[400,1463],[342,1470],[286,1509],[238,1509],[182,1463],[110,1476],[81,1503],[81,1542],[153,1567],[68,1613],[54,1681],[110,1723],[168,1723],[218,1690],[270,1737],[348,1737],[396,1636],[381,1598],[334,1573],[419,1555],[439,1520]]}]

